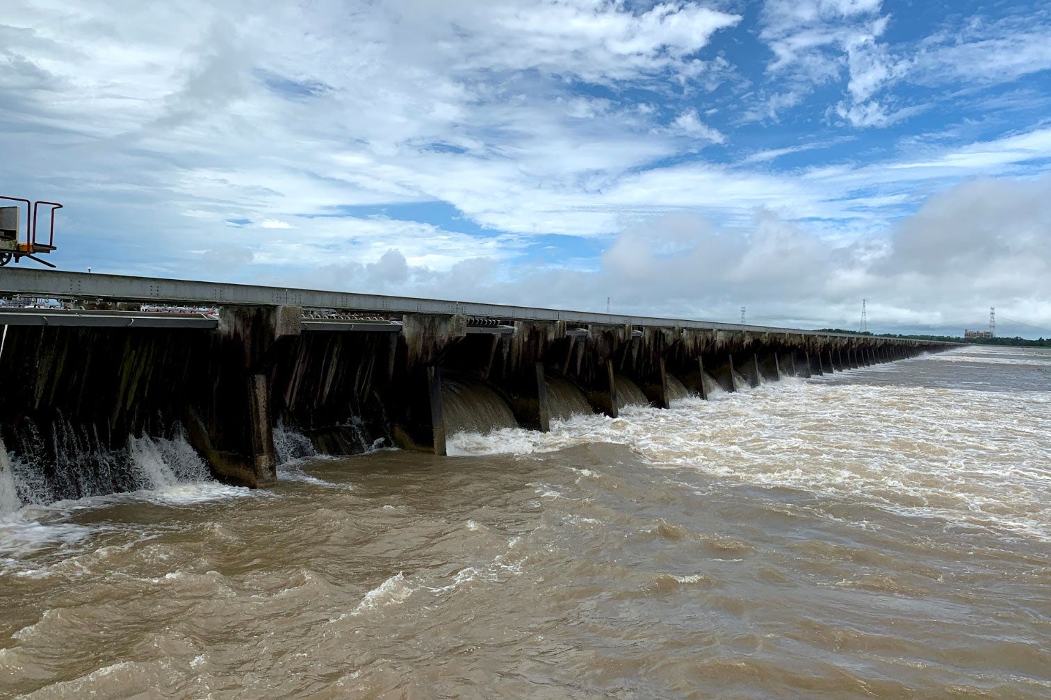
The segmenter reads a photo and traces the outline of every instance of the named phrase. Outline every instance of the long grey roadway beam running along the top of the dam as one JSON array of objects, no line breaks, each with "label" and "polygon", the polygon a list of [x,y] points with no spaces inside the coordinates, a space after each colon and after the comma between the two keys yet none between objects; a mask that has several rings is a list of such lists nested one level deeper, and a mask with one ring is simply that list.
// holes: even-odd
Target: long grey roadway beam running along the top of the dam
[{"label": "long grey roadway beam running along the top of the dam", "polygon": [[[860,334],[851,333],[829,333],[804,328],[784,328],[767,325],[748,325],[743,323],[721,323],[718,321],[657,318],[622,314],[601,314],[534,306],[513,306],[469,301],[385,296],[377,294],[326,292],[321,290],[303,290],[284,287],[263,287],[253,284],[233,284],[227,282],[205,282],[184,279],[131,277],[98,273],[21,270],[11,268],[0,269],[0,295],[49,299],[92,299],[206,306],[291,305],[305,309],[333,309],[380,314],[463,315],[482,318],[498,318],[509,321],[566,321],[570,323],[603,325],[631,324],[634,327],[682,327],[703,331],[730,331],[756,334],[792,334],[832,338],[882,338],[882,336],[861,336]],[[6,312],[13,310],[3,311]],[[60,312],[48,311],[46,314],[40,312],[39,310],[36,310],[36,312],[37,316],[42,317],[55,317],[61,315]],[[4,321],[0,320],[0,324],[3,322]],[[49,323],[43,322],[40,324],[47,325]],[[68,319],[66,323],[61,324],[71,325],[77,324],[77,322],[73,319]],[[892,338],[892,340],[899,342],[924,342],[919,340],[912,341],[905,338]]]}]

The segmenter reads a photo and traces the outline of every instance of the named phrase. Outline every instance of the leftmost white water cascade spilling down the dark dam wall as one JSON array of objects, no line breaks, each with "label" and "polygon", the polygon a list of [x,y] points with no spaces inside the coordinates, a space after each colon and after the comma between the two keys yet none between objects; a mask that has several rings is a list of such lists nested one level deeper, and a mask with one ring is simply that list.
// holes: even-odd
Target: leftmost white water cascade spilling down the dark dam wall
[{"label": "leftmost white water cascade spilling down the dark dam wall", "polygon": [[211,472],[182,426],[167,437],[130,437],[123,448],[104,444],[94,428],[70,425],[61,416],[47,446],[25,420],[11,452],[0,450],[0,513],[26,505],[160,489],[209,481]]}]

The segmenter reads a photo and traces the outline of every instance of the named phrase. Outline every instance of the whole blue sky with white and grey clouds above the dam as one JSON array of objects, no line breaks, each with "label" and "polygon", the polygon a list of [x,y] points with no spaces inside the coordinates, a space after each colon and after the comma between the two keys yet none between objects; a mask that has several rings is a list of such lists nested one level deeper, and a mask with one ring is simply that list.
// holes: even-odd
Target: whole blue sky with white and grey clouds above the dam
[{"label": "whole blue sky with white and grey clouds above the dam", "polygon": [[0,9],[64,269],[1051,336],[1044,2],[150,4]]}]

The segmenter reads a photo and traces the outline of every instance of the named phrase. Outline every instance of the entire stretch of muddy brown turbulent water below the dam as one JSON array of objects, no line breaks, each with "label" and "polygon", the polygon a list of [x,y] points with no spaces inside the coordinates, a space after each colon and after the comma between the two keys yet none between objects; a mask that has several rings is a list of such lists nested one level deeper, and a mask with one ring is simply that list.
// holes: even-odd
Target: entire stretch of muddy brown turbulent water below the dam
[{"label": "entire stretch of muddy brown turbulent water below the dam", "polygon": [[5,496],[0,696],[1051,697],[1051,353],[450,446]]}]

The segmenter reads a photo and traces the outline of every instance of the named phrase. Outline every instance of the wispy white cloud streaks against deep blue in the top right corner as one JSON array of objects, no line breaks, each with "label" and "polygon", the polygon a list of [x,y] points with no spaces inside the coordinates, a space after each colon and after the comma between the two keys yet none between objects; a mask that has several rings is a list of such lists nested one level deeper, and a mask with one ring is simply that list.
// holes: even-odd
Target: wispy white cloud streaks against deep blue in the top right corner
[{"label": "wispy white cloud streaks against deep blue in the top right corner", "polygon": [[886,127],[927,108],[904,102],[909,91],[897,89],[902,84],[974,89],[1051,69],[1047,8],[988,8],[997,13],[994,20],[957,18],[955,28],[893,46],[885,40],[888,25],[907,27],[912,20],[884,9],[880,0],[766,0],[760,38],[772,52],[768,71],[790,88],[767,100],[766,116],[776,120],[800,104],[800,96],[846,78],[834,112],[854,127]]}]

